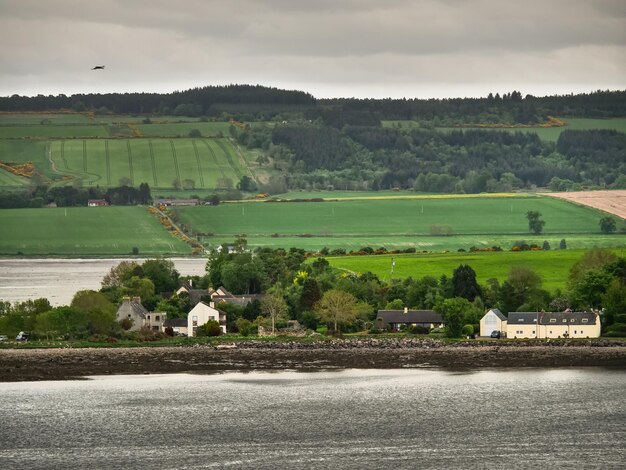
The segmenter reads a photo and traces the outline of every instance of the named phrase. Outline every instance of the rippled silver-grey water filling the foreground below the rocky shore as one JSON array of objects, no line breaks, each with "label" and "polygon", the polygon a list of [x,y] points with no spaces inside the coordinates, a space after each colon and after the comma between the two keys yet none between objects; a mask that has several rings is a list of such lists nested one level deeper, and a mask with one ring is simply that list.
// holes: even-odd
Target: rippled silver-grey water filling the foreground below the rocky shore
[{"label": "rippled silver-grey water filling the foreground below the rocky shore", "polygon": [[604,369],[0,383],[0,467],[624,468],[625,390]]}]

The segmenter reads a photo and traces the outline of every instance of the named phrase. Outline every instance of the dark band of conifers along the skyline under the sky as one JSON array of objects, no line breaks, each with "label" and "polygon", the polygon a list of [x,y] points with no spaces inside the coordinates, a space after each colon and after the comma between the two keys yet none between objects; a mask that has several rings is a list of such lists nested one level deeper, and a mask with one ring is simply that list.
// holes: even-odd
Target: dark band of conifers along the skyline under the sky
[{"label": "dark band of conifers along the skyline under the sky", "polygon": [[[329,126],[371,125],[382,119],[437,120],[440,124],[532,124],[547,116],[615,117],[626,115],[626,92],[535,97],[519,91],[485,98],[316,100],[308,93],[277,88],[228,85],[173,93],[106,93],[0,97],[0,111],[102,110],[115,113],[160,113],[217,116],[224,111],[241,118],[267,119],[276,113],[321,118]],[[272,113],[273,111],[273,113]]]}]

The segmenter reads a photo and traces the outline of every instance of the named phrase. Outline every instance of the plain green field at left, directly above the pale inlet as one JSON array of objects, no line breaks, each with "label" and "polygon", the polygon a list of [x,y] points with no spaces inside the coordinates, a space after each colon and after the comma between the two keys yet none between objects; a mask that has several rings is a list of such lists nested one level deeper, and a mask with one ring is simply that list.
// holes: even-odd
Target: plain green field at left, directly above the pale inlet
[{"label": "plain green field at left, directly above the pale inlet", "polygon": [[188,255],[145,207],[69,207],[0,211],[0,255]]}]

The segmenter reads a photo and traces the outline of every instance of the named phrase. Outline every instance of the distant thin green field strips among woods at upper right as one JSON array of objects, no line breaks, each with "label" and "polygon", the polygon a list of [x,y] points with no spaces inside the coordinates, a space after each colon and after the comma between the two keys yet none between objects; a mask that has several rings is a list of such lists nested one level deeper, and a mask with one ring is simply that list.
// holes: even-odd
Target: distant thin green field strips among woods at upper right
[{"label": "distant thin green field strips among woods at upper right", "polygon": [[[501,130],[505,132],[535,132],[541,140],[556,142],[564,130],[589,130],[589,129],[615,129],[626,132],[626,118],[614,119],[586,119],[567,118],[563,119],[566,125],[563,127],[441,127],[439,130],[449,132],[459,129],[483,129]],[[417,129],[420,127],[418,121],[383,121],[383,127],[398,127],[401,129]]]}]

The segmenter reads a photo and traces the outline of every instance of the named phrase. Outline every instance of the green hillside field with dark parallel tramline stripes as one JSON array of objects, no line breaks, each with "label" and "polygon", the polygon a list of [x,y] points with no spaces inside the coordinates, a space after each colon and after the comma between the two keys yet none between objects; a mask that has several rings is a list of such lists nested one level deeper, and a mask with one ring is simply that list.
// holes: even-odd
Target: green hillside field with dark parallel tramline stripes
[{"label": "green hillside field with dark parallel tramline stripes", "polygon": [[175,179],[189,179],[198,189],[212,189],[218,178],[234,184],[248,173],[227,139],[55,140],[50,157],[58,172],[84,186],[116,186],[129,178],[136,186],[169,188]]}]

